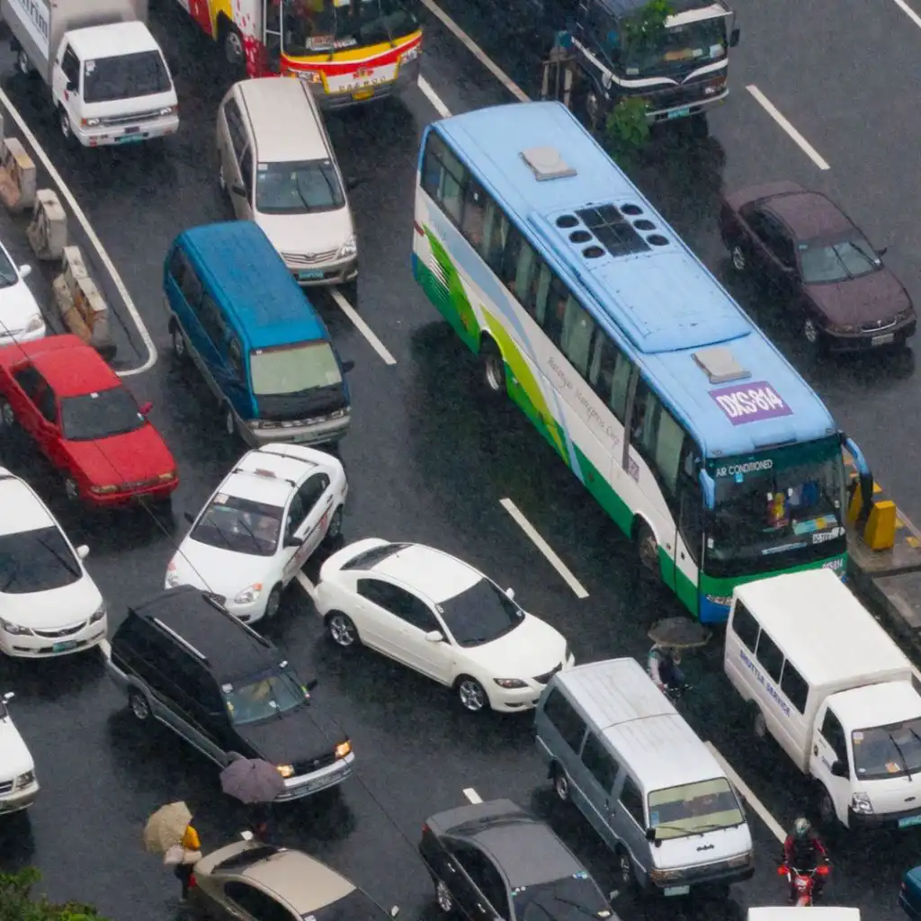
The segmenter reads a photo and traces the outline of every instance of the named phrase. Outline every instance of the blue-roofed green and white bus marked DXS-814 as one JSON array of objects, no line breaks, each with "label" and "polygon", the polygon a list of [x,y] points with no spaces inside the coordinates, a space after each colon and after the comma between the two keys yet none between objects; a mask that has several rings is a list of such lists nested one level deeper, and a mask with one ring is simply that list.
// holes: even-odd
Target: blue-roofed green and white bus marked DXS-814
[{"label": "blue-roofed green and white bus marked DXS-814", "polygon": [[701,621],[754,578],[844,577],[834,419],[564,106],[430,125],[414,225],[415,279],[485,387]]}]

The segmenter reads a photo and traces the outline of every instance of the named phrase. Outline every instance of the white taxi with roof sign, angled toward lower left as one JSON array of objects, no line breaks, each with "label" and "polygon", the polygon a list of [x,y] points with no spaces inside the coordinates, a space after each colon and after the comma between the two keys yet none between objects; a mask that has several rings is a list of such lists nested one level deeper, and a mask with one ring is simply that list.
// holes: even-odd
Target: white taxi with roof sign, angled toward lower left
[{"label": "white taxi with roof sign, angled toward lower left", "polygon": [[278,612],[282,590],[342,530],[343,465],[303,445],[270,444],[240,458],[208,499],[167,567],[166,587],[193,585],[254,623]]}]

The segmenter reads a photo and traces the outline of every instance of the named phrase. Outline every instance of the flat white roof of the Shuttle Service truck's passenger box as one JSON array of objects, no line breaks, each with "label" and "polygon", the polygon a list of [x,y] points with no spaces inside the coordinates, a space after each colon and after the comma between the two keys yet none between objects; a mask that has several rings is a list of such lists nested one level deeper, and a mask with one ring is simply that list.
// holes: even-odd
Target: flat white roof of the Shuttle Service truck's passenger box
[{"label": "flat white roof of the Shuttle Service truck's passenger box", "polygon": [[911,679],[904,652],[832,569],[758,579],[734,594],[811,685]]}]

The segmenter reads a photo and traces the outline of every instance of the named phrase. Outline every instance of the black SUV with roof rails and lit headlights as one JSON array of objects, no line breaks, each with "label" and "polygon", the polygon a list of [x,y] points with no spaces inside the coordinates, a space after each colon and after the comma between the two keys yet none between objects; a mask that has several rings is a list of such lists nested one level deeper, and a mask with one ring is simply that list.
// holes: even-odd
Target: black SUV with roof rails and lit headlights
[{"label": "black SUV with roof rails and lit headlights", "polygon": [[342,729],[324,720],[269,640],[216,596],[181,586],[135,605],[115,631],[106,669],[134,716],[153,717],[221,767],[235,754],[276,764],[279,800],[309,796],[352,773]]}]

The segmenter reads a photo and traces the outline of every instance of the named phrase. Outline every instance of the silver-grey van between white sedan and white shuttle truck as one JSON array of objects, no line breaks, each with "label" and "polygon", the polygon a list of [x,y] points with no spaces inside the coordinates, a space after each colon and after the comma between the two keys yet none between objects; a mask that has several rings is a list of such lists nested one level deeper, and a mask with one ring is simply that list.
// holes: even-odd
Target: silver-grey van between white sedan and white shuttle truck
[{"label": "silver-grey van between white sedan and white shuttle truck", "polygon": [[635,659],[558,671],[535,728],[556,795],[611,847],[624,886],[687,895],[752,877],[735,789]]}]

